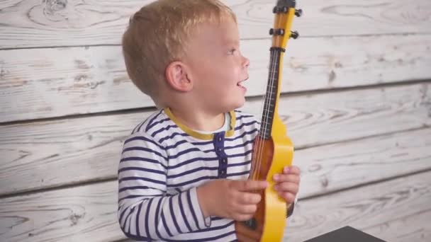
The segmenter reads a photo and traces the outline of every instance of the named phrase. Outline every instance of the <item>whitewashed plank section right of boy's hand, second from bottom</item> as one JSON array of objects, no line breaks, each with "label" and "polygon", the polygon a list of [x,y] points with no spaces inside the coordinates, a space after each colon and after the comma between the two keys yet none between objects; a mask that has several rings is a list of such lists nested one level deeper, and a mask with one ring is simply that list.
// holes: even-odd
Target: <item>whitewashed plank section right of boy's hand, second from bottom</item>
[{"label": "whitewashed plank section right of boy's hand, second from bottom", "polygon": [[302,197],[431,168],[431,129],[387,134],[296,151]]}]

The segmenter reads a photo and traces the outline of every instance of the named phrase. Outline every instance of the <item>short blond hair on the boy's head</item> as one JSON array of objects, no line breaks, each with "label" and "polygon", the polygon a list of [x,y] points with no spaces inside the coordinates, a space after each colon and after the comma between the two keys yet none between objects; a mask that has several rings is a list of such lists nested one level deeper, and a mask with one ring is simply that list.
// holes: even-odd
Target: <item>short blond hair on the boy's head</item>
[{"label": "short blond hair on the boy's head", "polygon": [[198,24],[218,23],[226,16],[236,22],[233,11],[218,0],[158,0],[142,7],[123,35],[130,79],[157,104],[164,71],[185,56],[189,35]]}]

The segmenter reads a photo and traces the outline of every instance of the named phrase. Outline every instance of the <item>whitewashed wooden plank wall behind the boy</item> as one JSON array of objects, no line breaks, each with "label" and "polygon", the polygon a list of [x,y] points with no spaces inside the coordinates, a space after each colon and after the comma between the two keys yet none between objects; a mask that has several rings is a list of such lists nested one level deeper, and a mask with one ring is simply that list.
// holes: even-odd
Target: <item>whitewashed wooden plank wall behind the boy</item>
[{"label": "whitewashed wooden plank wall behind the boy", "polygon": [[[122,241],[121,144],[155,110],[121,34],[148,0],[0,1],[0,241]],[[260,110],[275,0],[225,1]],[[286,241],[431,241],[431,1],[298,0],[280,113],[303,172]]]}]

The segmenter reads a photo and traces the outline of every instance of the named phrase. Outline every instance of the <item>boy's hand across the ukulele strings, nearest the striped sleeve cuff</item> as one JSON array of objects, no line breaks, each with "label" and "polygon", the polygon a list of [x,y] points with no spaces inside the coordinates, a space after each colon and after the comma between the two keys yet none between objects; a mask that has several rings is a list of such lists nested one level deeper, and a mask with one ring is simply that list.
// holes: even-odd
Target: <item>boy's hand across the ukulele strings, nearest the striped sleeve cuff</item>
[{"label": "boy's hand across the ukulele strings, nearest the striped sleeve cuff", "polygon": [[204,217],[218,216],[237,221],[253,217],[261,200],[258,190],[267,188],[267,181],[219,179],[197,188]]}]

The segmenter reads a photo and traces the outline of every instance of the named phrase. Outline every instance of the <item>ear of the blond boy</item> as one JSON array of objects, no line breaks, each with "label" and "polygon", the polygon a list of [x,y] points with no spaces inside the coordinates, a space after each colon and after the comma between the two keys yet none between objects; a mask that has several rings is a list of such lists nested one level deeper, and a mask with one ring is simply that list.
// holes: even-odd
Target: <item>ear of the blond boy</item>
[{"label": "ear of the blond boy", "polygon": [[177,91],[190,91],[193,82],[189,79],[186,65],[183,62],[171,62],[165,71],[167,83]]}]

